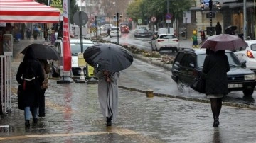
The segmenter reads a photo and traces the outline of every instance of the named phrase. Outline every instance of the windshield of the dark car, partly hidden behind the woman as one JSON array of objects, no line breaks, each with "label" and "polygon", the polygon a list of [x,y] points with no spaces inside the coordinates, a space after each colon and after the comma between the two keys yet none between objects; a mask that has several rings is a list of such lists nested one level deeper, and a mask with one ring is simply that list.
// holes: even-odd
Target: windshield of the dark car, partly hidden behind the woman
[{"label": "windshield of the dark car, partly hidden behind the woman", "polygon": [[[233,52],[226,52],[225,55],[228,56],[228,62],[231,68],[241,66],[239,59],[235,57],[235,54]],[[204,59],[206,59],[206,54],[201,54],[197,56],[197,67],[203,68]]]}]

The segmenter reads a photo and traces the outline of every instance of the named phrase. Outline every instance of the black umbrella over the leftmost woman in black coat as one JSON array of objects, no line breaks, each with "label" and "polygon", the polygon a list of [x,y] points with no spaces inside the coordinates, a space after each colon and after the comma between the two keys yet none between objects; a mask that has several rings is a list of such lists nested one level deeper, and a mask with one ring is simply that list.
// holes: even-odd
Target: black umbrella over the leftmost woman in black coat
[{"label": "black umbrella over the leftmost woman in black coat", "polygon": [[[55,50],[53,47],[50,47],[48,45],[43,44],[31,44],[28,45],[28,47],[32,47],[33,51],[35,53],[36,58],[38,59],[53,59],[53,60],[59,60],[60,55],[58,54],[57,50]],[[22,54],[26,54],[26,50],[28,49],[26,47],[24,50],[22,50]]]}]

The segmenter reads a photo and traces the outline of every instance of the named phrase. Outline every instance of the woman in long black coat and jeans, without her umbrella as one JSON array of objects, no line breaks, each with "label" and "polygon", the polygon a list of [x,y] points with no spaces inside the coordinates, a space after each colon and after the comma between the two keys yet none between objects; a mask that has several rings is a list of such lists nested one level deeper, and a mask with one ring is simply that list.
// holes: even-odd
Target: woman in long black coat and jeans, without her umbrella
[{"label": "woman in long black coat and jeans, without her umbrella", "polygon": [[33,48],[29,47],[23,58],[23,62],[18,67],[16,80],[21,85],[21,97],[19,104],[24,107],[25,125],[29,127],[30,111],[33,116],[33,122],[38,122],[38,104],[41,94],[41,84],[44,80],[41,63],[35,58]]}]

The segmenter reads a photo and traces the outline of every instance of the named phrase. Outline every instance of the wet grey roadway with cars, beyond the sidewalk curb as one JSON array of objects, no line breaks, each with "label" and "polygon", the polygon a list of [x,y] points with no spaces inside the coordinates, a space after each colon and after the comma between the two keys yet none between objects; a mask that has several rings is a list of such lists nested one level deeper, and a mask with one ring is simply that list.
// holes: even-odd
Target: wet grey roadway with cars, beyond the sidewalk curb
[{"label": "wet grey roadway with cars, beyond the sidewalk curb", "polygon": [[[117,38],[104,38],[105,40],[110,40],[111,42],[115,42]],[[145,48],[147,50],[151,50],[151,45],[149,44],[149,38],[138,38],[134,39],[132,33],[129,35],[124,34],[122,38],[119,40],[122,45],[134,45],[139,48]],[[143,39],[143,40],[142,40]],[[136,41],[136,42],[133,42]],[[190,47],[190,40],[180,40],[180,47]],[[144,45],[144,46],[143,46]],[[171,56],[175,56],[176,52],[168,53]],[[147,88],[151,88],[155,93],[174,95],[174,96],[182,96],[186,98],[198,98],[201,100],[207,100],[206,96],[202,93],[198,93],[193,91],[191,88],[185,88],[185,92],[181,93],[177,89],[176,83],[171,79],[171,71],[168,69],[164,69],[162,67],[157,67],[152,64],[149,64],[147,61],[142,62],[141,60],[134,60],[132,67],[127,70],[124,70],[125,76],[120,80],[123,80],[122,83],[130,82],[132,86],[130,88],[138,88],[139,85],[143,85],[141,90],[146,90]],[[134,76],[136,74],[136,76]],[[137,78],[139,76],[139,78]],[[121,84],[122,85],[122,84]],[[125,84],[124,84],[125,85]],[[256,108],[256,96],[245,97],[243,96],[242,91],[233,91],[228,93],[228,96],[225,96],[223,101],[226,103],[238,103],[242,105],[250,105],[252,108]]]}]

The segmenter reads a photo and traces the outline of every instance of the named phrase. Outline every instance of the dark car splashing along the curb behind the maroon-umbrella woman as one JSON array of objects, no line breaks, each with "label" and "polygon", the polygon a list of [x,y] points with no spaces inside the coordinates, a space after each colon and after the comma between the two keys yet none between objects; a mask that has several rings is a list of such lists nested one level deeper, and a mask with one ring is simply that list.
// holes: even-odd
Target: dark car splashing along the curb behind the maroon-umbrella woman
[{"label": "dark car splashing along the curb behind the maroon-umbrella woman", "polygon": [[[233,52],[225,51],[230,64],[228,71],[228,91],[242,91],[245,96],[252,96],[255,89],[255,73],[245,67],[245,62],[240,62]],[[194,79],[201,76],[203,62],[206,58],[206,49],[181,48],[172,66],[171,78],[177,83],[179,91],[183,86],[191,86]]]}]

